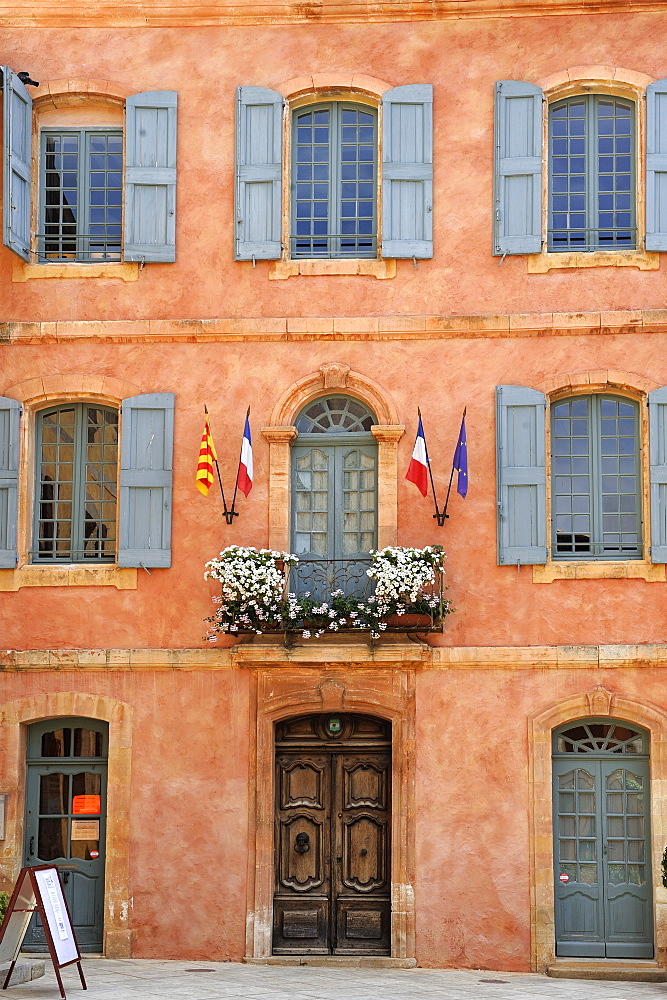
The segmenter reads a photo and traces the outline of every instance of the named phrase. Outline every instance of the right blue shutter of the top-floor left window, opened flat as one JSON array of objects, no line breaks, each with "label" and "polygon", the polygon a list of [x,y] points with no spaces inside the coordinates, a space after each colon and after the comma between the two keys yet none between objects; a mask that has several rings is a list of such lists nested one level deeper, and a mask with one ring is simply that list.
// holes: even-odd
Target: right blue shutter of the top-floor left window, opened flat
[{"label": "right blue shutter of the top-floor left window, opened flat", "polygon": [[176,260],[176,107],[173,90],[125,104],[125,260]]}]

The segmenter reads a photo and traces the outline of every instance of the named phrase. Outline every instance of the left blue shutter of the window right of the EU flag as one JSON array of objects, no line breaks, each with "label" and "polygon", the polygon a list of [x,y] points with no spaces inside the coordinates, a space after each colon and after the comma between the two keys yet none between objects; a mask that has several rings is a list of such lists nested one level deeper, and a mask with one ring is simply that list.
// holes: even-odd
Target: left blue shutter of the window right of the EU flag
[{"label": "left blue shutter of the window right of the EU flag", "polygon": [[500,385],[496,404],[498,563],[545,563],[546,396],[520,385]]}]

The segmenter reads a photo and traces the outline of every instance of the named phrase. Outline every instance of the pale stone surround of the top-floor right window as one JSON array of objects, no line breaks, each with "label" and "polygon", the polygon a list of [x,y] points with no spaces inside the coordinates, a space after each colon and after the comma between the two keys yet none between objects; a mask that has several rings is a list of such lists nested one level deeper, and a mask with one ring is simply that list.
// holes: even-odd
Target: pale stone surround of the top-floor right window
[{"label": "pale stone surround of the top-floor right window", "polygon": [[582,267],[636,267],[642,271],[657,271],[660,255],[646,250],[593,250],[549,252],[546,247],[546,233],[549,220],[549,105],[564,97],[577,94],[609,94],[631,100],[636,109],[635,117],[635,176],[637,246],[643,246],[646,224],[646,88],[653,83],[653,77],[646,73],[621,66],[573,66],[567,70],[552,73],[537,85],[544,93],[544,115],[542,122],[542,252],[526,256],[528,274],[547,274],[551,270]]}]

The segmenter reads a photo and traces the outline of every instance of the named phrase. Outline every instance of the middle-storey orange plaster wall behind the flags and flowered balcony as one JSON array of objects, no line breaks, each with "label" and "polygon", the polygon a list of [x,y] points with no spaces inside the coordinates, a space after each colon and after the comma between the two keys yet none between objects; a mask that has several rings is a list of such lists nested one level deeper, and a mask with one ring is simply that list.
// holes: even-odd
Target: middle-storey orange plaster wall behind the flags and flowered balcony
[{"label": "middle-storey orange plaster wall behind the flags and flowered balcony", "polygon": [[[366,373],[394,400],[407,431],[399,443],[398,541],[444,544],[457,611],[440,641],[454,646],[646,643],[667,640],[664,583],[642,580],[532,582],[530,567],[496,565],[494,387],[535,385],[554,372],[631,368],[667,384],[664,335],[539,337],[415,343],[61,344],[3,348],[0,394],[37,375],[89,372],[121,377],[141,392],[176,392],[173,562],[139,571],[136,591],[109,587],[23,588],[0,595],[7,648],[187,648],[204,646],[202,618],[216,593],[203,565],[224,545],[266,545],[268,445],[260,428],[289,385],[327,361]],[[159,369],[156,371],[156,352]],[[630,359],[630,360],[629,360]],[[215,489],[195,490],[203,405],[229,488],[242,418],[252,404],[255,485],[232,527]],[[441,499],[464,405],[470,491],[454,494],[451,518],[437,528],[431,500],[403,479],[420,405]],[[25,500],[23,500],[25,502]],[[45,608],[48,613],[45,614]]]}]

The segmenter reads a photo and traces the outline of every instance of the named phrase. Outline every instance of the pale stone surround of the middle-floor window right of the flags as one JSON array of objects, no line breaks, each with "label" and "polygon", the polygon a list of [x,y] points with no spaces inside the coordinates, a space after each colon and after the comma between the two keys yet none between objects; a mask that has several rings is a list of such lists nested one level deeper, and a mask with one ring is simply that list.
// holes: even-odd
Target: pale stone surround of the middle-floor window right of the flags
[{"label": "pale stone surround of the middle-floor window right of the flags", "polygon": [[545,420],[546,433],[546,520],[549,540],[547,542],[547,561],[544,565],[533,566],[533,583],[553,583],[555,580],[617,580],[639,579],[647,583],[660,583],[667,580],[666,567],[654,564],[649,559],[650,538],[650,488],[649,488],[649,442],[648,442],[648,408],[646,396],[652,389],[658,388],[658,383],[635,372],[616,370],[593,370],[588,372],[572,372],[564,375],[550,375],[532,386],[544,392],[549,404],[569,396],[592,395],[594,393],[613,393],[617,396],[627,396],[640,404],[640,460],[642,471],[642,521],[644,525],[642,559],[601,560],[601,559],[552,559],[551,557],[551,421]]}]

